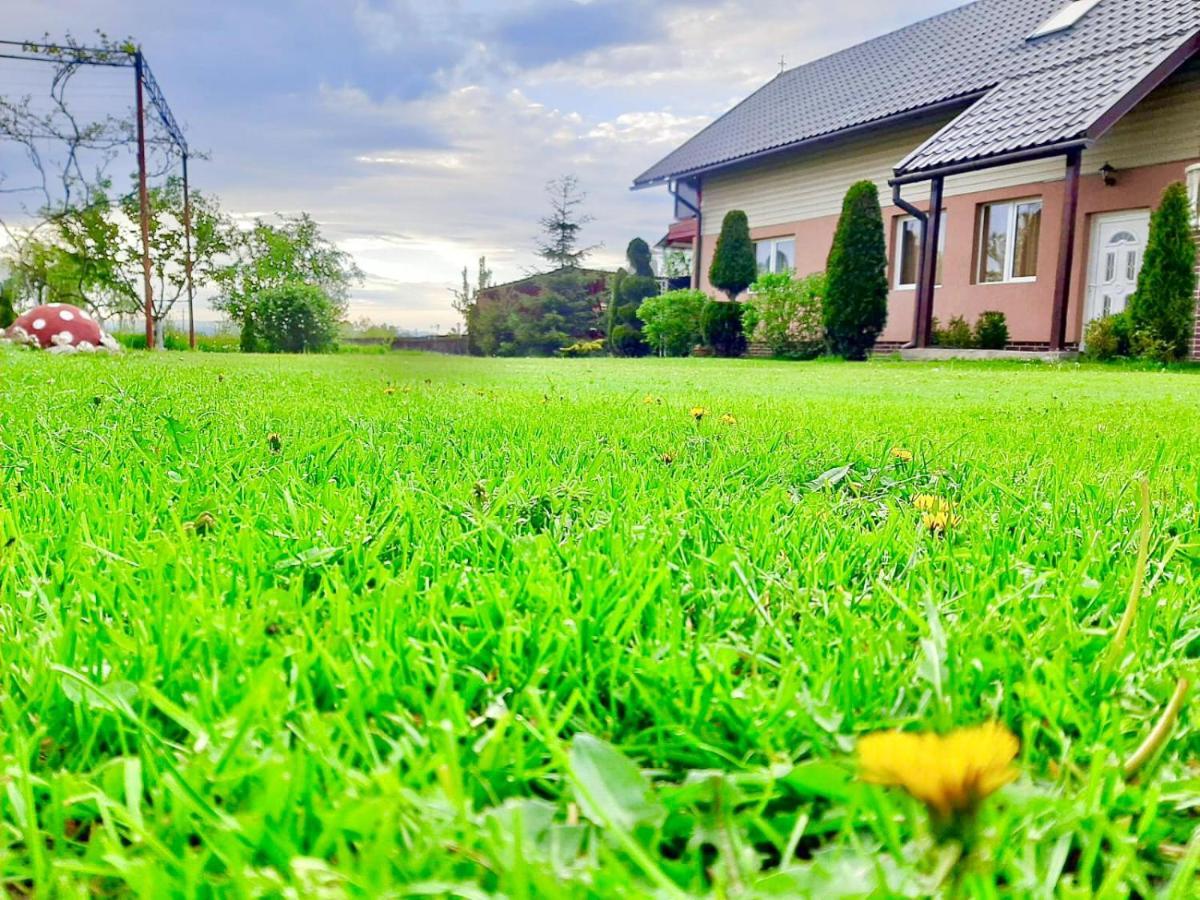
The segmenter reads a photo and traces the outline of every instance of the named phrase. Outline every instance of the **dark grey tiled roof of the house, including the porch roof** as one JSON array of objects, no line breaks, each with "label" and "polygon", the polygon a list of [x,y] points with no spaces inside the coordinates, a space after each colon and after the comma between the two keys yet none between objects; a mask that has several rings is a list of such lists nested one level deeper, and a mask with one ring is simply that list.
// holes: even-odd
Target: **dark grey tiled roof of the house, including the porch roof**
[{"label": "dark grey tiled roof of the house, including the porch roof", "polygon": [[1066,1],[977,0],[793,68],[635,185],[720,168],[958,98],[971,106],[898,170],[1084,137],[1200,32],[1200,0],[1102,0],[1069,31],[1027,41]]}]

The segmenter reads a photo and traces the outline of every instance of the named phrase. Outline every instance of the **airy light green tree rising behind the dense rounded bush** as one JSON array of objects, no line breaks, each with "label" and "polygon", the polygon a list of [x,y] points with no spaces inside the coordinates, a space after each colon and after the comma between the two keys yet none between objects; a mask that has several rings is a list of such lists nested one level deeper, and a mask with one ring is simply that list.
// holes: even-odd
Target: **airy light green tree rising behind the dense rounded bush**
[{"label": "airy light green tree rising behind the dense rounded bush", "polygon": [[246,310],[259,293],[301,283],[320,288],[338,314],[344,314],[350,287],[362,280],[362,271],[349,253],[320,233],[307,212],[280,220],[277,224],[254,220],[248,232],[233,236],[233,259],[211,272],[220,290],[212,305],[245,324]]}]

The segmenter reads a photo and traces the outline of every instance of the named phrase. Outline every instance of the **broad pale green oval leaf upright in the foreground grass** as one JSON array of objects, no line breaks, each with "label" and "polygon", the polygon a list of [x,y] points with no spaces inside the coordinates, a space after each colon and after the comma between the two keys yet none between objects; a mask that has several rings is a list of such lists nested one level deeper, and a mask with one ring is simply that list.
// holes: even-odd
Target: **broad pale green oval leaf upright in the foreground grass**
[{"label": "broad pale green oval leaf upright in the foreground grass", "polygon": [[571,742],[570,763],[575,799],[596,824],[630,832],[662,818],[662,806],[641,769],[611,744],[578,734]]}]

